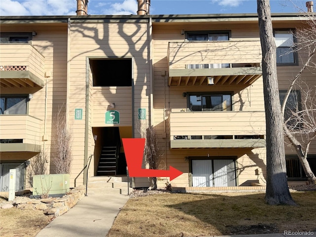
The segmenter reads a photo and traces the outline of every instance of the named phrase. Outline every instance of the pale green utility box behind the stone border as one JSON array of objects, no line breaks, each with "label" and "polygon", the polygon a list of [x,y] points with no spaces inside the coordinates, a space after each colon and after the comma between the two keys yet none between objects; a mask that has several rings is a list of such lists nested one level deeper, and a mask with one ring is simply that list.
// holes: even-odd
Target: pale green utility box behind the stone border
[{"label": "pale green utility box behind the stone border", "polygon": [[40,174],[33,176],[33,195],[66,194],[70,190],[69,174]]}]

